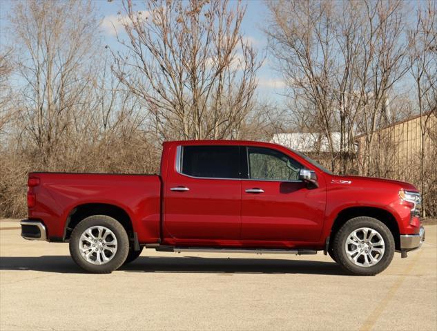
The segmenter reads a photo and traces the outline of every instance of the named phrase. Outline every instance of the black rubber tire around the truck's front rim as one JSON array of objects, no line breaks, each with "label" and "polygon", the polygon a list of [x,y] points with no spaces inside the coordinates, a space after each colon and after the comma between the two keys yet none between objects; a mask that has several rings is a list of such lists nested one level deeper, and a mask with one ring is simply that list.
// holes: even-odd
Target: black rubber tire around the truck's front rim
[{"label": "black rubber tire around the truck's front rim", "polygon": [[[380,236],[382,237],[382,240],[384,240],[385,251],[380,257],[380,260],[375,265],[356,265],[351,260],[349,260],[347,256],[345,247],[347,238],[353,231],[362,227],[373,229],[374,231],[378,232],[378,234],[380,234]],[[365,246],[363,245],[363,247]],[[349,274],[354,274],[358,276],[373,276],[385,270],[391,263],[391,260],[393,260],[394,251],[394,238],[389,228],[380,220],[371,217],[356,217],[348,220],[338,230],[333,243],[333,255],[336,257],[336,262]]]}]

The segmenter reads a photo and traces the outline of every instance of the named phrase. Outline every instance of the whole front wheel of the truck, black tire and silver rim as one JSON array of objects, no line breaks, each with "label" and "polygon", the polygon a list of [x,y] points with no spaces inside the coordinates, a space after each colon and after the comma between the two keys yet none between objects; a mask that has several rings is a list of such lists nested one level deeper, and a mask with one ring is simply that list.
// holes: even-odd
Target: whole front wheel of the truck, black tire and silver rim
[{"label": "whole front wheel of the truck, black tire and silver rim", "polygon": [[385,270],[394,251],[394,238],[389,228],[371,217],[348,220],[333,243],[336,262],[347,272],[360,276],[373,276]]}]

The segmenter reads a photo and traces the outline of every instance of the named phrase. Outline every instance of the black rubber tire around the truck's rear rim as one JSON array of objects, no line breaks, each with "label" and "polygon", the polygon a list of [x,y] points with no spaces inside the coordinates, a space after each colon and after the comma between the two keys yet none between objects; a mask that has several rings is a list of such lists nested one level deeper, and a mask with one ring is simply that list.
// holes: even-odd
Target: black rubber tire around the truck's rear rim
[{"label": "black rubber tire around the truck's rear rim", "polygon": [[[79,249],[81,235],[86,229],[96,226],[110,229],[117,239],[117,251],[111,257],[110,261],[101,265],[88,262],[86,258],[81,255]],[[69,246],[71,257],[79,267],[93,274],[109,274],[121,267],[124,261],[126,261],[129,251],[129,240],[126,230],[117,220],[106,215],[94,215],[84,218],[84,220],[81,220],[75,229],[73,229]]]}]

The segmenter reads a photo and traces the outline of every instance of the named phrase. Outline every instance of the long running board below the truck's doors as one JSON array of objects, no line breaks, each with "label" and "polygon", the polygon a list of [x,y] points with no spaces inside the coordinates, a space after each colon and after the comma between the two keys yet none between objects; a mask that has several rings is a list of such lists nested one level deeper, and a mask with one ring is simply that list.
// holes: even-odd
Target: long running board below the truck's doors
[{"label": "long running board below the truck's doors", "polygon": [[317,254],[313,249],[242,249],[242,248],[202,248],[202,247],[172,247],[160,246],[154,247],[158,252],[175,252],[175,253],[248,253],[248,254],[295,254],[309,255]]}]

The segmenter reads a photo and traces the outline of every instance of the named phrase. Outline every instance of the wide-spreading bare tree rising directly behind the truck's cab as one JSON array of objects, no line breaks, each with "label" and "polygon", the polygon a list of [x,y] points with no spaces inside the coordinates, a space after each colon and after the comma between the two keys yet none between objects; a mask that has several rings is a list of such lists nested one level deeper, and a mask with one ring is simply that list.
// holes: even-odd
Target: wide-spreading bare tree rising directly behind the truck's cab
[{"label": "wide-spreading bare tree rising directly behind the truck's cab", "polygon": [[242,39],[245,8],[227,0],[124,1],[120,81],[141,97],[159,140],[237,138],[260,67]]}]

